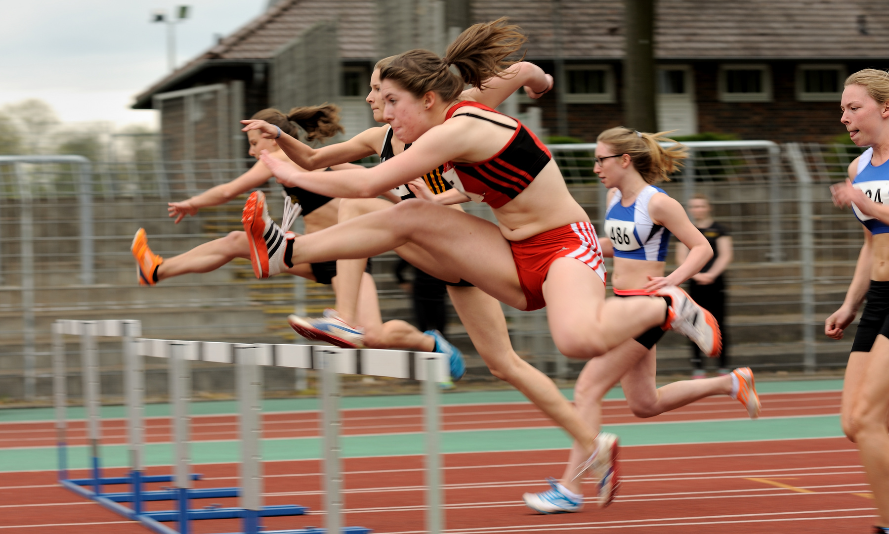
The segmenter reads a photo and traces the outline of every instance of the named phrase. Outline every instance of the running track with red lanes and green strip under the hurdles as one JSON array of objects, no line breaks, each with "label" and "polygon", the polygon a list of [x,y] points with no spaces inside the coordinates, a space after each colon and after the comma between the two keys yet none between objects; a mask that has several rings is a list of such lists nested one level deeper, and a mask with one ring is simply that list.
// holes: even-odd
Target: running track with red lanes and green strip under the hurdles
[{"label": "running track with red lanes and green strip under the hurdles", "polygon": [[[818,383],[812,384],[817,390]],[[459,436],[462,446],[460,452],[445,455],[447,529],[454,534],[637,529],[769,534],[868,531],[874,514],[872,500],[856,451],[838,437],[839,393],[775,391],[763,394],[763,402],[763,417],[750,422],[740,405],[727,398],[699,401],[645,421],[633,417],[625,401],[607,401],[605,424],[613,425],[610,430],[631,445],[622,450],[621,494],[604,510],[590,503],[580,514],[560,515],[533,514],[522,504],[521,494],[544,490],[544,477],[561,473],[564,450],[509,450],[522,443],[505,440],[500,450],[491,450],[490,443],[473,443],[474,437],[483,440],[492,433],[513,441],[516,436],[530,439],[535,433],[552,432],[546,428],[552,426],[549,421],[527,403],[447,406],[445,437]],[[269,442],[315,442],[316,416],[312,411],[266,414],[264,436]],[[344,416],[344,433],[356,439],[372,437],[397,443],[420,432],[420,409],[416,407],[349,409]],[[234,439],[236,420],[230,415],[195,417],[193,423],[196,441],[210,444]],[[107,420],[103,442],[123,442],[123,425],[120,420]],[[766,439],[779,435],[773,430],[757,430],[770,425],[786,433],[780,434],[780,439]],[[825,435],[805,439],[789,435],[817,425],[824,427]],[[72,434],[79,437],[71,441],[83,442],[82,422],[73,426]],[[638,428],[660,443],[632,445],[637,434],[630,431]],[[695,431],[694,435],[710,438],[697,441],[714,442],[678,443],[684,435],[675,434],[690,428],[713,429],[711,433]],[[157,443],[166,441],[168,421],[150,419],[149,436]],[[48,446],[53,438],[52,425],[46,421],[0,424],[0,457],[27,452],[52,465],[54,449]],[[566,445],[564,438],[553,443],[558,448]],[[347,524],[388,534],[422,532],[421,462],[417,455],[346,458]],[[30,465],[23,460],[20,465],[26,464]],[[266,504],[300,504],[312,510],[302,517],[268,518],[268,529],[323,524],[318,512],[322,495],[316,459],[268,461],[265,470]],[[0,473],[0,534],[148,532],[60,489],[52,471],[6,471]],[[196,466],[195,471],[205,476],[197,487],[236,485],[236,465],[208,463]],[[106,470],[108,474],[122,472],[119,468]],[[149,472],[167,473],[168,469],[156,466]],[[211,500],[202,505],[234,505],[236,499]],[[153,509],[170,506],[151,505]],[[233,521],[193,524],[198,534],[238,528]]]}]

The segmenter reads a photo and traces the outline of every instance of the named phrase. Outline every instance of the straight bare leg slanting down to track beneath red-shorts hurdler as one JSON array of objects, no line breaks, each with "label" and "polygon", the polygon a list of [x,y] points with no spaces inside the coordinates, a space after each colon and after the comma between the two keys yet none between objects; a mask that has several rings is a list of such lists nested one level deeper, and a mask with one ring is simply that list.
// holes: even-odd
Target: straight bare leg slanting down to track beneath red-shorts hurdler
[{"label": "straight bare leg slanting down to track beneath red-shorts hurdler", "polygon": [[[589,267],[587,267],[589,269]],[[478,355],[485,360],[491,374],[505,380],[532,401],[549,418],[581,443],[580,449],[589,458],[596,438],[589,424],[573,408],[556,384],[530,363],[518,357],[509,342],[509,330],[497,299],[477,287],[449,286],[454,310],[460,315],[469,339]]]}]

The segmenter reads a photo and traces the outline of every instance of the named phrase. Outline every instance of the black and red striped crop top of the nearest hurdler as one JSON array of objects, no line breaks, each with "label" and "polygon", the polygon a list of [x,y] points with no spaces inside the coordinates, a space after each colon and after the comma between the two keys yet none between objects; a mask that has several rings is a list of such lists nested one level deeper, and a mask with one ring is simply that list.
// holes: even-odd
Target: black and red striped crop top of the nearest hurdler
[{"label": "black and red striped crop top of the nearest hurdler", "polygon": [[[465,107],[485,109],[485,111],[503,115],[500,111],[491,109],[477,101],[461,101],[448,109],[445,119],[453,117],[454,111]],[[453,170],[457,174],[456,177],[451,176],[454,181],[453,186],[458,190],[471,193],[470,197],[482,198],[481,201],[486,202],[488,206],[501,207],[516,198],[519,193],[531,185],[537,174],[540,174],[543,167],[547,166],[549,160],[552,159],[552,154],[549,153],[546,145],[517,120],[517,125],[511,126],[471,112],[460,115],[480,118],[516,131],[500,152],[485,161],[477,163],[450,162],[449,164],[453,166]]]}]

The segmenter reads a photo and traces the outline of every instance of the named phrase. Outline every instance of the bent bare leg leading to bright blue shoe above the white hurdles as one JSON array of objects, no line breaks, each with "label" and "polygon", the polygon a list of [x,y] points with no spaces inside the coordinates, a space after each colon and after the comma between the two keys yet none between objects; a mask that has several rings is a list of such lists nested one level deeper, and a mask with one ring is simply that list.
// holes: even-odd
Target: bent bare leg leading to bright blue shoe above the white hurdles
[{"label": "bent bare leg leading to bright blue shoe above the white hurdles", "polygon": [[[339,268],[339,265],[337,266]],[[334,287],[340,276],[334,279]],[[423,334],[411,323],[404,320],[382,322],[380,302],[377,300],[377,287],[373,277],[364,272],[356,308],[356,324],[364,328],[364,346],[372,349],[410,349],[433,352],[436,340]]]}]

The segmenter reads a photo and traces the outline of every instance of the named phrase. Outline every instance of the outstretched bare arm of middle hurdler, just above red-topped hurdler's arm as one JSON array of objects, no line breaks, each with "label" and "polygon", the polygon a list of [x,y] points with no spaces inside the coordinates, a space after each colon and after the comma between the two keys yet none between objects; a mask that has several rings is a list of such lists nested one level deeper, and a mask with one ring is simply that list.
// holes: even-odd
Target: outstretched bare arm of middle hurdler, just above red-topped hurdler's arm
[{"label": "outstretched bare arm of middle hurdler, just above red-topped hurdler's arm", "polygon": [[244,125],[244,128],[241,129],[242,132],[259,130],[262,137],[274,139],[277,145],[281,147],[281,150],[284,150],[287,158],[290,158],[293,163],[309,171],[372,156],[377,153],[377,145],[381,144],[380,142],[375,142],[377,139],[381,139],[380,126],[368,128],[348,141],[333,143],[320,149],[313,149],[299,139],[284,134],[284,132],[281,132],[280,137],[278,137],[277,126],[270,125],[264,120],[242,120],[241,124]]}]

